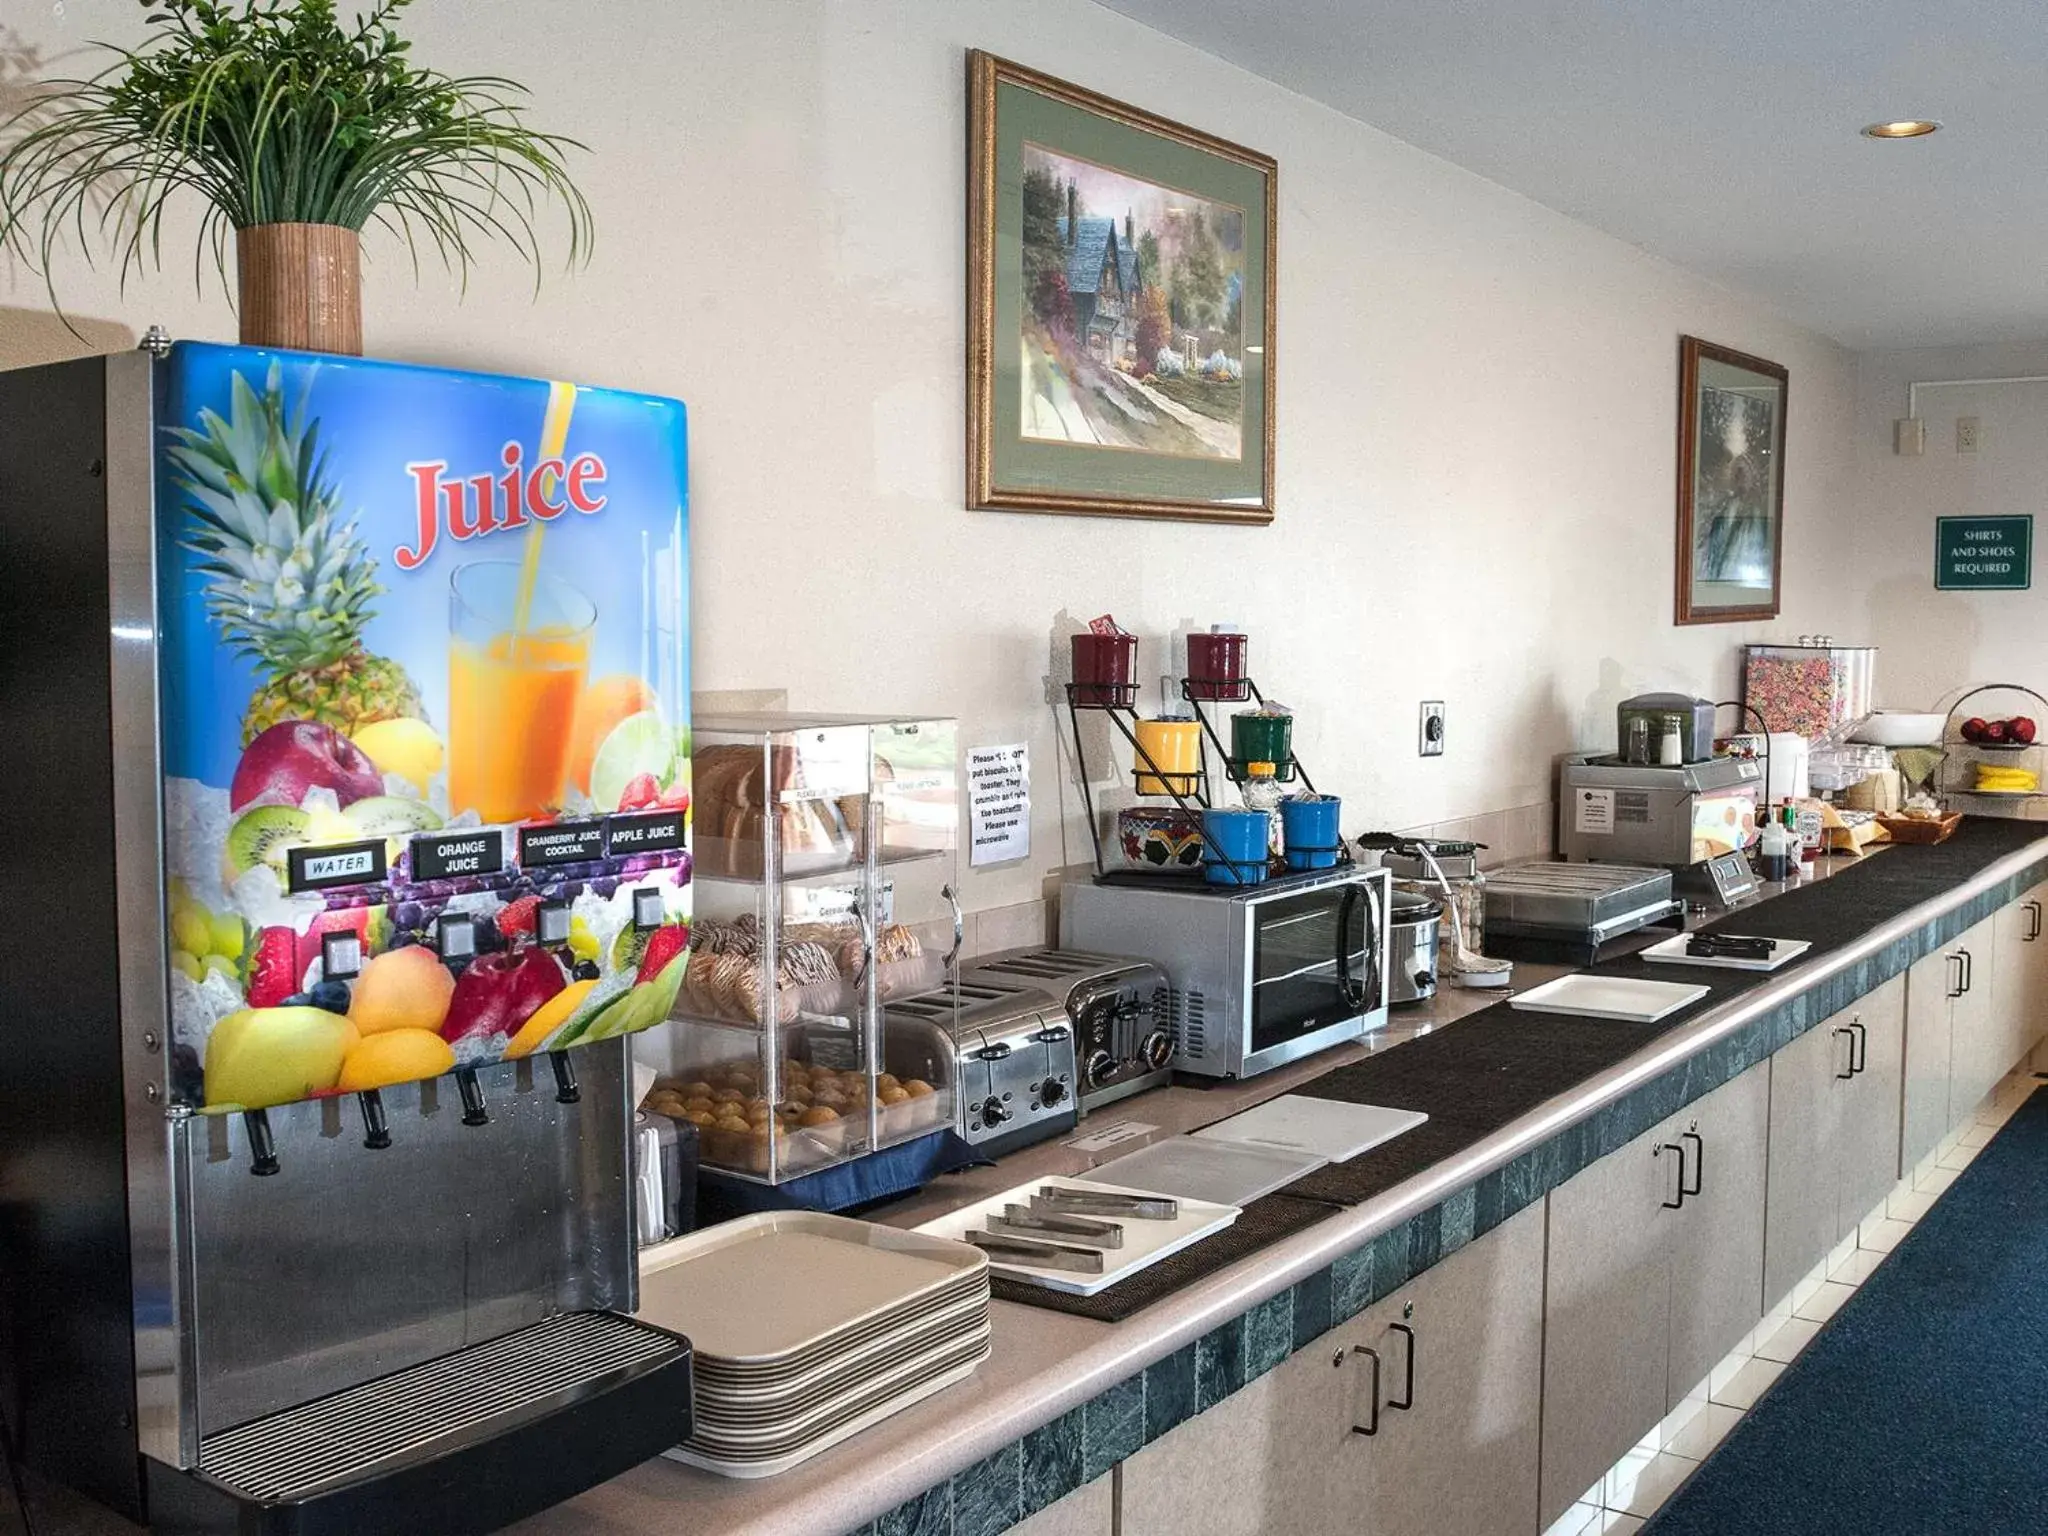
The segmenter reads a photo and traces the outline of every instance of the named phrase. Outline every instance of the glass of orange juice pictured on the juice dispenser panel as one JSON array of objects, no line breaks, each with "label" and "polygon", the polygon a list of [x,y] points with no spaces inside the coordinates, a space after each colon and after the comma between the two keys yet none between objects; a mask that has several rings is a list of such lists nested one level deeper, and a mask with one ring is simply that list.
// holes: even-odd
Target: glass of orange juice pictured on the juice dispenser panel
[{"label": "glass of orange juice pictured on the juice dispenser panel", "polygon": [[[526,582],[530,590],[522,590]],[[451,809],[522,821],[561,805],[596,623],[590,598],[545,571],[526,571],[518,561],[457,567],[449,614]]]}]

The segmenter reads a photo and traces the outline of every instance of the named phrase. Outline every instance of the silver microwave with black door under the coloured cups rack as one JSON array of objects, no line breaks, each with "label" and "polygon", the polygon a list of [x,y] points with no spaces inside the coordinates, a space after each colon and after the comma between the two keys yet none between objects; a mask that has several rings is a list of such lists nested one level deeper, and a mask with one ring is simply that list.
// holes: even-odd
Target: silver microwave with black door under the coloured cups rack
[{"label": "silver microwave with black door under the coloured cups rack", "polygon": [[1253,1077],[1386,1022],[1382,868],[1262,885],[1102,877],[1061,889],[1061,944],[1141,954],[1167,977],[1174,1069]]}]

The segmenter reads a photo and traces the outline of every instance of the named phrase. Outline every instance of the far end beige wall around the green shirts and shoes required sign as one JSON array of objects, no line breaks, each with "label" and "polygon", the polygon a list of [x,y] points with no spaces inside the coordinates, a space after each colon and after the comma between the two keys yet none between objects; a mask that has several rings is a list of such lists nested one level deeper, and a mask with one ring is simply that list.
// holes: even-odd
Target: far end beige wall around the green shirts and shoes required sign
[{"label": "far end beige wall around the green shirts and shoes required sign", "polygon": [[[1837,549],[1843,582],[1831,627],[1872,641],[1878,702],[1931,709],[1974,682],[2048,692],[2048,565],[2034,557],[2030,592],[1935,592],[1933,522],[2032,512],[2048,537],[2048,385],[1921,389],[1927,451],[1892,453],[1892,420],[1915,379],[2048,375],[2048,342],[1868,352],[1855,412],[1858,498]],[[1956,418],[1982,426],[1974,455],[1956,453]],[[1999,702],[1999,700],[1995,700]]]}]

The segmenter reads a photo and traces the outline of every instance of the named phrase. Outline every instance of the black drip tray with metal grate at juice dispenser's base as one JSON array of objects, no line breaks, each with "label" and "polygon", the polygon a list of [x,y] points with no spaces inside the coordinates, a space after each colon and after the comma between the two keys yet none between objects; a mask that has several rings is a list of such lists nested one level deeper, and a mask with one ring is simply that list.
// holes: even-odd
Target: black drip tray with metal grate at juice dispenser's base
[{"label": "black drip tray with metal grate at juice dispenser's base", "polygon": [[[559,1313],[207,1436],[195,1475],[152,1466],[152,1511],[168,1499],[190,1528],[266,1536],[487,1532],[688,1434],[688,1339]],[[199,1518],[193,1499],[221,1509]]]}]

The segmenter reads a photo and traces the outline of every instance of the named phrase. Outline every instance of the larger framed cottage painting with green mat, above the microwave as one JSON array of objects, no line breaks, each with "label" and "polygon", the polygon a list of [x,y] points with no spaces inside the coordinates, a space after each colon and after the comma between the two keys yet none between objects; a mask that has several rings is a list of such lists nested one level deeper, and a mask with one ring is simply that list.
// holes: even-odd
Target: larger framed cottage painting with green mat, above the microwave
[{"label": "larger framed cottage painting with green mat, above the microwave", "polygon": [[969,55],[967,500],[1272,522],[1276,168]]}]

